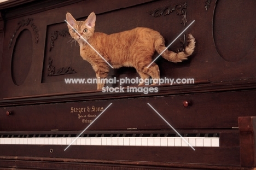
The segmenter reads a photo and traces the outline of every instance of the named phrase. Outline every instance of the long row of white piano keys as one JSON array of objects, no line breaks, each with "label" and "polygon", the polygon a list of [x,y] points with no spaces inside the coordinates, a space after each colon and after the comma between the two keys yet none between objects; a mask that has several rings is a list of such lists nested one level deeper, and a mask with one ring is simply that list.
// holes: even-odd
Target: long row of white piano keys
[{"label": "long row of white piano keys", "polygon": [[[69,145],[75,137],[1,137],[0,144]],[[184,137],[191,146],[218,147],[218,137]],[[72,145],[189,146],[181,137],[79,137]]]}]

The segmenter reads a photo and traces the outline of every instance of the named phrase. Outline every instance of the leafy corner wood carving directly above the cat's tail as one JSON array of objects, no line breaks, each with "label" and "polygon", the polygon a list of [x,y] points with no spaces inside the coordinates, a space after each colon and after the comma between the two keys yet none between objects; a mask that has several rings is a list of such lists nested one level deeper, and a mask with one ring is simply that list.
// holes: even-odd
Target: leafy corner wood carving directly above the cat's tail
[{"label": "leafy corner wood carving directly above the cat's tail", "polygon": [[149,10],[149,11],[147,11],[147,13],[149,13],[150,15],[152,15],[154,17],[158,17],[158,16],[161,16],[161,15],[169,15],[174,10],[176,11],[177,15],[182,16],[182,20],[181,20],[180,24],[183,24],[184,26],[186,26],[186,22],[187,22],[187,2],[176,4],[176,5],[170,5],[170,6],[167,6],[167,7],[161,7],[161,8],[158,8],[158,9]]}]

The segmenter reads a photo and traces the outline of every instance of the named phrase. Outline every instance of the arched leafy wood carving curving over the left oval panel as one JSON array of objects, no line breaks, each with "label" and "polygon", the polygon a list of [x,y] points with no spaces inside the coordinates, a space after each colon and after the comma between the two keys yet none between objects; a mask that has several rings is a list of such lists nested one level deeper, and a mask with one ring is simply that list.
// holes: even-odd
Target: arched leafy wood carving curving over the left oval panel
[{"label": "arched leafy wood carving curving over the left oval panel", "polygon": [[16,33],[20,30],[21,27],[24,26],[28,26],[30,25],[30,27],[32,28],[33,32],[34,32],[34,39],[36,44],[38,43],[38,30],[37,30],[37,26],[34,25],[33,19],[32,18],[27,18],[27,19],[23,19],[21,21],[18,22],[18,25],[16,27],[16,30],[13,33],[13,36],[11,36],[10,42],[9,42],[9,49],[11,48],[11,45],[13,44],[13,39],[16,36]]}]

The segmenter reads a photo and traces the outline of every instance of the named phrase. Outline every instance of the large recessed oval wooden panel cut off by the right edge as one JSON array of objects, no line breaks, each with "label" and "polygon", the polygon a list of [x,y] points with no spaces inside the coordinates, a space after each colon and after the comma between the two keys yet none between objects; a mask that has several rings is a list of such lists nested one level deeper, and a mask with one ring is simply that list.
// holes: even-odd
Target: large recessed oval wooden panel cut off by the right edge
[{"label": "large recessed oval wooden panel cut off by the right edge", "polygon": [[[229,4],[232,8],[227,9]],[[251,49],[256,36],[255,8],[255,1],[218,1],[213,35],[216,49],[225,61],[238,61]]]}]

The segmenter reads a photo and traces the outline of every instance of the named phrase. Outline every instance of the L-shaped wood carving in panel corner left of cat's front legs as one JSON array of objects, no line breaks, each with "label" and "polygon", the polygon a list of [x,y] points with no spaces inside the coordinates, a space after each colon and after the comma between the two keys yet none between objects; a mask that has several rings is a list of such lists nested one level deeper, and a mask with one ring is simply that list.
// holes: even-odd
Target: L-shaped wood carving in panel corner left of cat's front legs
[{"label": "L-shaped wood carving in panel corner left of cat's front legs", "polygon": [[57,69],[57,71],[55,72],[55,67],[53,66],[53,59],[49,57],[48,74],[47,74],[48,77],[55,76],[55,75],[63,75],[63,74],[73,74],[73,73],[77,73],[77,72],[75,72],[72,67],[62,67]]}]

